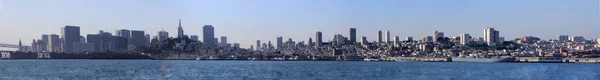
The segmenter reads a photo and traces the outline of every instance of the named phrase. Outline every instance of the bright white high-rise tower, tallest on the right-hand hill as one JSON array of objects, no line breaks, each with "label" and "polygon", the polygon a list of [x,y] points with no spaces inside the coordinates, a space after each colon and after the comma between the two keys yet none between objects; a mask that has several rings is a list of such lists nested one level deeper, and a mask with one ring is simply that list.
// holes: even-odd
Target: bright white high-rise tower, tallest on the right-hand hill
[{"label": "bright white high-rise tower, tallest on the right-hand hill", "polygon": [[484,41],[488,46],[496,46],[500,40],[500,32],[494,28],[487,27],[483,30]]}]

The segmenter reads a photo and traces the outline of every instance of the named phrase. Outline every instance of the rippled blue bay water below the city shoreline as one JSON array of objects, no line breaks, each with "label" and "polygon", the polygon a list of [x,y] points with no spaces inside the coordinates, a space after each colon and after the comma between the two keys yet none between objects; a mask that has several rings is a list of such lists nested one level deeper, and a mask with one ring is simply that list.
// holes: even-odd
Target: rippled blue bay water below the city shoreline
[{"label": "rippled blue bay water below the city shoreline", "polygon": [[0,80],[599,80],[600,64],[0,60]]}]

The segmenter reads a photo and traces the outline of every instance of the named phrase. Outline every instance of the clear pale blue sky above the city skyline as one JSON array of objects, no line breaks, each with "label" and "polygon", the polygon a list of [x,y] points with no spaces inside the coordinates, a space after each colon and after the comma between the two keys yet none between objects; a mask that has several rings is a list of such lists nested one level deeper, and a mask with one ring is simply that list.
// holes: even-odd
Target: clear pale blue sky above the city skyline
[{"label": "clear pale blue sky above the city skyline", "polygon": [[[29,45],[42,34],[60,34],[65,25],[81,34],[99,30],[165,30],[176,36],[178,19],[185,34],[199,35],[213,25],[215,37],[249,47],[277,36],[296,42],[323,32],[375,41],[378,30],[422,39],[441,31],[447,37],[483,37],[485,27],[506,40],[522,36],[600,37],[599,0],[0,0],[0,43]],[[357,39],[359,40],[359,39]]]}]

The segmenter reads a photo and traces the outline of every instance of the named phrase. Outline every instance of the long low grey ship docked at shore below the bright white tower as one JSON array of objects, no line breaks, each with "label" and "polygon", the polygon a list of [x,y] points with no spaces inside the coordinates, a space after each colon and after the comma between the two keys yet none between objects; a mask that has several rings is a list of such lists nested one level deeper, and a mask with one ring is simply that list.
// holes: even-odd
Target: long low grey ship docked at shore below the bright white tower
[{"label": "long low grey ship docked at shore below the bright white tower", "polygon": [[452,57],[452,62],[515,62],[516,58],[479,58],[479,57]]}]

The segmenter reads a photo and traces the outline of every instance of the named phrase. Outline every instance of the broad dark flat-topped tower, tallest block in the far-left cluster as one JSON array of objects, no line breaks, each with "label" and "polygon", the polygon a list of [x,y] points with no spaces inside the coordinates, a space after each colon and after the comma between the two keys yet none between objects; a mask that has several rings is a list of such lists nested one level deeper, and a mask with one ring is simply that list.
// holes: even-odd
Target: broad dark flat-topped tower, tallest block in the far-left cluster
[{"label": "broad dark flat-topped tower, tallest block in the far-left cluster", "polygon": [[80,42],[79,26],[65,26],[62,28],[62,51],[71,53],[73,52],[73,43]]}]

